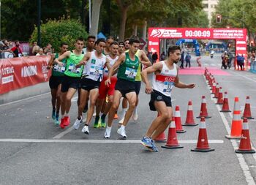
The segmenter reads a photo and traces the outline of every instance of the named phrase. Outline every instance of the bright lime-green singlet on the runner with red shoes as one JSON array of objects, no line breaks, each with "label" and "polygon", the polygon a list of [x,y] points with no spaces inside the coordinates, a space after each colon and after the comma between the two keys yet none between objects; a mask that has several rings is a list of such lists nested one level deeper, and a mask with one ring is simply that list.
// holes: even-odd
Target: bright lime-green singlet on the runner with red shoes
[{"label": "bright lime-green singlet on the runner with red shoes", "polygon": [[81,77],[83,66],[75,67],[75,65],[83,59],[83,56],[83,54],[77,56],[73,51],[71,51],[69,58],[67,58],[67,67],[64,74],[69,77]]}]

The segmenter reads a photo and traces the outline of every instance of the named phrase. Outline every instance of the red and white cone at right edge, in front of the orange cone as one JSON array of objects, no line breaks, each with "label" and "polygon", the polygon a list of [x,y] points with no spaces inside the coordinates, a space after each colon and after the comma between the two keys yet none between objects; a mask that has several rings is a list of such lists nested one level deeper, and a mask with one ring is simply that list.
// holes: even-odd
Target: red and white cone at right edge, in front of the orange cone
[{"label": "red and white cone at right edge, in front of the orange cone", "polygon": [[255,153],[255,150],[252,149],[251,140],[249,138],[249,127],[248,127],[247,118],[244,118],[244,121],[243,121],[242,135],[240,139],[239,148],[238,150],[236,150],[236,153],[239,153],[239,154]]}]

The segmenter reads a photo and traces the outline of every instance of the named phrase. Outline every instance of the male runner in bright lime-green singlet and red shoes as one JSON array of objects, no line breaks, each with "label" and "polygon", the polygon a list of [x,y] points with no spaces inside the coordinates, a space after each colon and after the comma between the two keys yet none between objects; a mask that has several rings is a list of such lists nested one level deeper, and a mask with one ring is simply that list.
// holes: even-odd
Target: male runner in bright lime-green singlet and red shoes
[{"label": "male runner in bright lime-green singlet and red shoes", "polygon": [[69,110],[71,107],[71,99],[74,96],[78,86],[80,84],[80,78],[83,71],[83,66],[76,68],[83,59],[83,38],[78,38],[75,41],[75,50],[69,50],[63,53],[59,58],[54,60],[54,63],[59,64],[63,67],[64,64],[61,62],[67,58],[66,69],[64,72],[64,78],[61,84],[61,124],[60,127],[64,129],[69,125]]}]

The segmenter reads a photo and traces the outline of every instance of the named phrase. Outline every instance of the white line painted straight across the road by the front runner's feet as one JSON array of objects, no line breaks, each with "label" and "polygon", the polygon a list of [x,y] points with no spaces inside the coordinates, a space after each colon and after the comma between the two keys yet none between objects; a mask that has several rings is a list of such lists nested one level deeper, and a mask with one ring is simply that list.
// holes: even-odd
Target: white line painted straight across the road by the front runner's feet
[{"label": "white line painted straight across the road by the front runner's feet", "polygon": [[[40,139],[0,139],[10,143],[140,143],[140,140],[40,140]],[[179,140],[178,143],[194,144],[197,140]],[[208,143],[222,144],[223,140],[208,140]]]}]

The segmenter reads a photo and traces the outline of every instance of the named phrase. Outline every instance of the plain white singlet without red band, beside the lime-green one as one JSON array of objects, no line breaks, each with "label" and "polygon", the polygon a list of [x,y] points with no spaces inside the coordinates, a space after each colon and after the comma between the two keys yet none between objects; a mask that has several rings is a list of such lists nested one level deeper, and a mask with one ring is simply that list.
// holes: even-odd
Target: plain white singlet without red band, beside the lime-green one
[{"label": "plain white singlet without red band, beside the lime-green one", "polygon": [[83,75],[85,78],[100,82],[102,80],[107,57],[102,54],[102,58],[97,58],[95,52],[96,51],[91,52],[91,57],[83,68]]}]

